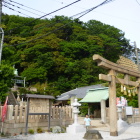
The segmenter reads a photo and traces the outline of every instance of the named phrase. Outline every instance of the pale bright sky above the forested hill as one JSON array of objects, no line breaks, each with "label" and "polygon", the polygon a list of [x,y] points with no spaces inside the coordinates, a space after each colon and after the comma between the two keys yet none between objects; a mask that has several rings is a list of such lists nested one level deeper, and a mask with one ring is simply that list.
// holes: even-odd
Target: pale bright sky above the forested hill
[{"label": "pale bright sky above the forested hill", "polygon": [[[3,13],[9,15],[20,15],[25,17],[30,16],[39,18],[77,0],[4,1],[5,6],[10,6],[14,10],[10,10],[7,7],[3,6]],[[52,18],[55,15],[64,15],[71,17],[89,8],[95,7],[103,1],[104,0],[80,0],[79,2],[65,9],[46,16],[45,18]],[[15,6],[9,5],[9,3]],[[17,6],[20,8],[17,8]],[[21,13],[18,13],[18,11],[20,11]],[[81,17],[80,20],[83,22],[88,22],[89,20],[98,20],[104,24],[114,26],[125,33],[125,37],[130,40],[132,45],[135,41],[137,48],[140,48],[140,0],[112,0],[111,2],[100,6],[90,13],[86,14],[85,16]]]}]

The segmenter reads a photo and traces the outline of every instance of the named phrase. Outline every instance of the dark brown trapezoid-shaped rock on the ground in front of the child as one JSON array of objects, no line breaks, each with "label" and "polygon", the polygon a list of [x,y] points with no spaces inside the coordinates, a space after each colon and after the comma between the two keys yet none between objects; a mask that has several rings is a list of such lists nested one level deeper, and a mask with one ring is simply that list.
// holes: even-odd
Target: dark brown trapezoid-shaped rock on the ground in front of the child
[{"label": "dark brown trapezoid-shaped rock on the ground in front of the child", "polygon": [[98,130],[88,130],[85,133],[83,138],[86,140],[101,140],[101,139],[103,139],[103,137],[101,136],[101,134],[99,133]]}]

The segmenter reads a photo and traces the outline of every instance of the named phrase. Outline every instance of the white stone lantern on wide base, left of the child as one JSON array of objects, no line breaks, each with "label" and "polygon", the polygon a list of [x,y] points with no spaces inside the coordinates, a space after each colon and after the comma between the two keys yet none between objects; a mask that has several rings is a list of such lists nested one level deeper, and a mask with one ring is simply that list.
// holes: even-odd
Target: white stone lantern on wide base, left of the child
[{"label": "white stone lantern on wide base, left of the child", "polygon": [[77,99],[75,99],[72,106],[73,106],[73,113],[74,113],[74,123],[66,128],[66,132],[71,134],[86,132],[86,128],[84,127],[84,125],[78,124],[78,113],[80,112],[79,106],[81,106],[81,104],[77,101]]}]

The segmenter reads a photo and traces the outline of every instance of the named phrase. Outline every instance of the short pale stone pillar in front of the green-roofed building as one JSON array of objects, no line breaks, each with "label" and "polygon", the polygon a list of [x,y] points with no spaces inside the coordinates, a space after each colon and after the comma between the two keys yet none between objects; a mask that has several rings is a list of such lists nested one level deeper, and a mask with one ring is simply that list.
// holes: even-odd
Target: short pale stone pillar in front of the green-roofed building
[{"label": "short pale stone pillar in front of the green-roofed building", "polygon": [[101,100],[101,121],[106,123],[106,101]]}]

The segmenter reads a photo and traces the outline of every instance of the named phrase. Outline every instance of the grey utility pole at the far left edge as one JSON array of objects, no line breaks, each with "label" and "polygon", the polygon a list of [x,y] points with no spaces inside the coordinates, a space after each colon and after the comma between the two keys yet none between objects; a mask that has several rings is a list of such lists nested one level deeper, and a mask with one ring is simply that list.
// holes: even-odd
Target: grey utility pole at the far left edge
[{"label": "grey utility pole at the far left edge", "polygon": [[0,0],[0,65],[1,65],[1,58],[2,58],[2,48],[3,48],[3,40],[4,40],[4,31],[1,25],[1,17],[2,17],[2,0]]}]

